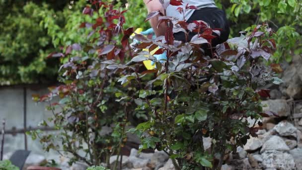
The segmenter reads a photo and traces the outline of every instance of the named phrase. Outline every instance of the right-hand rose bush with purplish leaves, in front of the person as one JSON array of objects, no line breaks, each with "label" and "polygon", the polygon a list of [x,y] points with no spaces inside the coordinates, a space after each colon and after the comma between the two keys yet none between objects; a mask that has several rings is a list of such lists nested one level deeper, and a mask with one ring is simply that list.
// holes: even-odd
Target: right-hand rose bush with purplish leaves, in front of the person
[{"label": "right-hand rose bush with purplish leaves, in front of the person", "polygon": [[[170,5],[179,3],[170,1]],[[188,8],[184,6],[185,10]],[[133,96],[137,110],[151,108],[149,121],[130,131],[141,137],[140,150],[152,148],[166,152],[177,170],[220,169],[227,151],[236,151],[250,136],[257,136],[255,125],[261,123],[255,121],[249,125],[244,118],[259,120],[261,115],[274,114],[262,113],[261,96],[268,97],[269,90],[258,86],[282,83],[276,75],[282,70],[280,65],[264,66],[276,50],[275,40],[271,38],[275,32],[266,24],[257,25],[252,32],[240,32],[240,37],[218,45],[209,57],[203,55],[200,45],[208,45],[217,29],[208,28],[202,21],[189,24],[175,21],[159,11],[151,12],[147,20],[158,14],[158,22],[166,24],[166,34],[155,40],[141,35],[134,38],[142,42],[139,49],[152,51],[160,46],[155,54],[166,52],[168,59],[161,64],[149,51],[141,51],[124,65],[135,72],[119,80],[122,85],[143,86],[139,95]],[[186,35],[189,32],[197,35],[188,43],[175,41],[173,27]],[[154,61],[156,68],[139,73],[135,68],[145,60]],[[107,68],[121,67],[112,64]],[[145,81],[144,77],[149,75],[154,78]],[[209,152],[202,147],[203,137],[212,138]]]}]

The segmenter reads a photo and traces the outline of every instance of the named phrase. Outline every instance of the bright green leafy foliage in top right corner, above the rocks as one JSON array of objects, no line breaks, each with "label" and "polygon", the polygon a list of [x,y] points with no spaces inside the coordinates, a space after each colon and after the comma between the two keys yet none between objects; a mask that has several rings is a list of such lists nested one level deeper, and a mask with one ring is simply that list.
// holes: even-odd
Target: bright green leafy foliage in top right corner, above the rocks
[{"label": "bright green leafy foliage in top right corner, above the rocks", "polygon": [[233,36],[241,30],[250,31],[263,22],[276,30],[277,34],[273,38],[278,49],[272,61],[290,62],[293,55],[302,54],[301,0],[216,0],[216,2],[226,9]]}]

